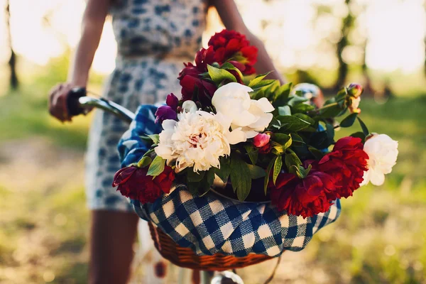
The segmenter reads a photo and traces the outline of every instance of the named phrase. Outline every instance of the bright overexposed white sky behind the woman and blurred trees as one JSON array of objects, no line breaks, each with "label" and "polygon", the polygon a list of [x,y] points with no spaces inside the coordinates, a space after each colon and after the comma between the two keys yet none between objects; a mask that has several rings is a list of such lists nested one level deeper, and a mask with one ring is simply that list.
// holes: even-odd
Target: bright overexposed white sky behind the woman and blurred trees
[{"label": "bright overexposed white sky behind the woman and blurred trees", "polygon": [[[334,43],[339,40],[339,26],[347,13],[343,0],[251,0],[250,5],[239,0],[237,3],[246,25],[265,42],[279,67],[336,67]],[[317,16],[318,5],[329,6],[330,13]],[[422,67],[426,33],[422,0],[357,0],[354,9],[361,15],[351,41],[360,44],[363,34],[368,36],[366,60],[370,68],[413,72]],[[68,47],[75,48],[83,11],[83,0],[11,0],[13,47],[18,55],[45,65]],[[266,21],[268,26],[263,29]],[[3,13],[0,13],[0,31],[0,42],[4,43]],[[93,69],[111,72],[115,54],[114,34],[107,21]],[[343,57],[349,63],[359,63],[363,54],[362,48],[351,46],[344,50]],[[8,56],[6,46],[1,45],[0,60],[6,61]]]}]

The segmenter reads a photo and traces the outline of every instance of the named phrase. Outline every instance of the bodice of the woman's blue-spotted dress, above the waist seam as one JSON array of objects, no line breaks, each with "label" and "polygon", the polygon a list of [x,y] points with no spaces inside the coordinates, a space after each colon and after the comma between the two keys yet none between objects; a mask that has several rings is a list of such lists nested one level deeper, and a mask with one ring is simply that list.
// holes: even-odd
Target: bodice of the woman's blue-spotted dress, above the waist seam
[{"label": "bodice of the woman's blue-spotted dress, above the waist seam", "polygon": [[207,0],[117,0],[110,13],[118,55],[192,59],[206,12]]}]

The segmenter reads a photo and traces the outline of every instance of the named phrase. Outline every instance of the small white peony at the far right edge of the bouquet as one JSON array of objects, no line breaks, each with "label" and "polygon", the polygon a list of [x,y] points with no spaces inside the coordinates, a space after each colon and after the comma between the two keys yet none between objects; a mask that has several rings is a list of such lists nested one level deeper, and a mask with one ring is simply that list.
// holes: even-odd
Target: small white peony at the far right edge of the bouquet
[{"label": "small white peony at the far right edge of the bouquet", "polygon": [[386,134],[372,133],[364,143],[364,151],[368,154],[367,168],[364,173],[366,185],[371,182],[373,185],[383,185],[385,175],[392,172],[392,167],[398,157],[398,141],[393,141]]}]

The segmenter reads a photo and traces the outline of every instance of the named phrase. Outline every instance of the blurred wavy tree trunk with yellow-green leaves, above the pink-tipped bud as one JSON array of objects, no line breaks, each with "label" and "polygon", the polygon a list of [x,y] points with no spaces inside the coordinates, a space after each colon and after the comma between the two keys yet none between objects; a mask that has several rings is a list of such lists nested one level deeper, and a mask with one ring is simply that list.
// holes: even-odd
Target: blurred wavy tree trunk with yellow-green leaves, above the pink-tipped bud
[{"label": "blurred wavy tree trunk with yellow-green leaves, above the pink-tipped bud", "polygon": [[342,38],[340,38],[339,42],[337,42],[336,46],[336,55],[337,60],[339,60],[339,72],[337,74],[337,80],[334,83],[334,89],[340,89],[344,83],[346,82],[346,77],[348,75],[349,67],[346,62],[344,62],[342,58],[342,52],[346,46],[349,45],[349,33],[354,28],[355,17],[351,12],[351,0],[344,1],[347,8],[348,14],[342,20]]}]

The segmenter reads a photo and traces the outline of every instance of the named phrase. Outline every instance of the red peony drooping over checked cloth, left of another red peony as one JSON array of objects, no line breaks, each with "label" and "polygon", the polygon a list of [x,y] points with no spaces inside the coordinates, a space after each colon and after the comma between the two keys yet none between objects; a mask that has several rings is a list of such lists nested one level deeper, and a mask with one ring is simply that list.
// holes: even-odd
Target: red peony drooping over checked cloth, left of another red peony
[{"label": "red peony drooping over checked cloth, left of another red peony", "polygon": [[331,201],[327,198],[336,190],[335,180],[331,175],[311,170],[306,178],[300,179],[292,173],[281,173],[271,187],[271,201],[279,210],[288,214],[312,217],[327,212]]}]

